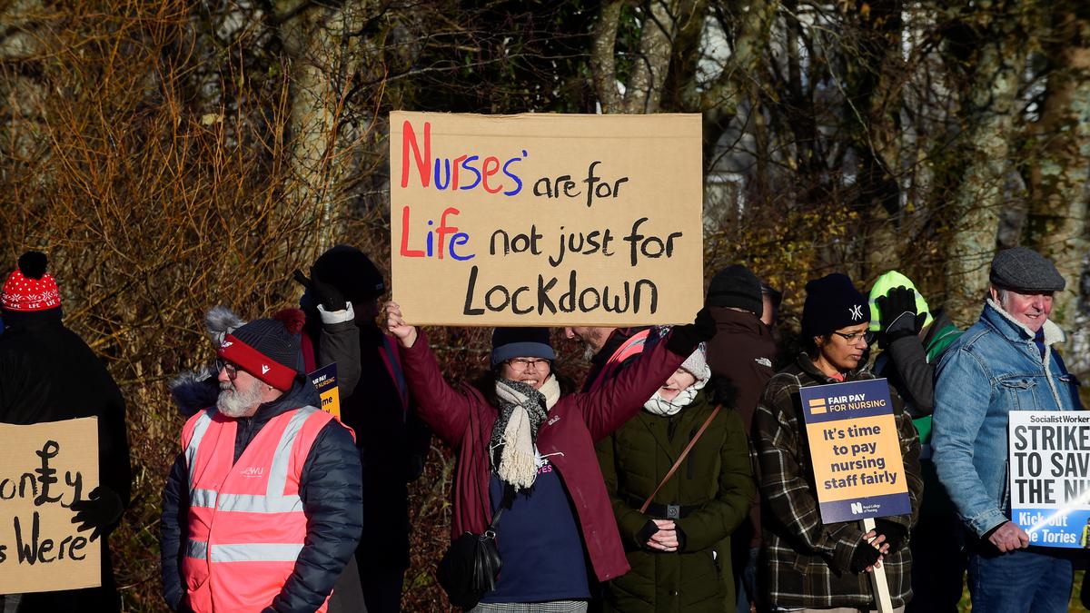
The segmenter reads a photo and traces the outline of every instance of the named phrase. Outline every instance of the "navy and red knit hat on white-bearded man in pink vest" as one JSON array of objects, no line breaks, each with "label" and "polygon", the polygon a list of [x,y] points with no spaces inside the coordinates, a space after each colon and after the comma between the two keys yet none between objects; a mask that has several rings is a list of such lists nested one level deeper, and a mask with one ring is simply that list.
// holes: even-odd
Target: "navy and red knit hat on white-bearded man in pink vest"
[{"label": "navy and red knit hat on white-bearded man in pink vest", "polygon": [[281,392],[291,389],[299,374],[299,336],[278,320],[254,320],[235,328],[216,353]]}]

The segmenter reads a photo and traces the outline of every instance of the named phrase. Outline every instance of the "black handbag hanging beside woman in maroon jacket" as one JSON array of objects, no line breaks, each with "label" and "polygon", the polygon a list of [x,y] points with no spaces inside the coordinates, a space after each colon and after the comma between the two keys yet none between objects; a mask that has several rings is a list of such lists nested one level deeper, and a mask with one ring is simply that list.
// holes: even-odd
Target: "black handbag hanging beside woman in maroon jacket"
[{"label": "black handbag hanging beside woman in maroon jacket", "polygon": [[481,534],[463,532],[439,561],[435,576],[455,606],[467,611],[473,609],[484,594],[496,589],[501,565],[496,546],[496,526],[504,509],[510,506],[509,489],[510,485],[505,488],[504,502],[485,531]]}]

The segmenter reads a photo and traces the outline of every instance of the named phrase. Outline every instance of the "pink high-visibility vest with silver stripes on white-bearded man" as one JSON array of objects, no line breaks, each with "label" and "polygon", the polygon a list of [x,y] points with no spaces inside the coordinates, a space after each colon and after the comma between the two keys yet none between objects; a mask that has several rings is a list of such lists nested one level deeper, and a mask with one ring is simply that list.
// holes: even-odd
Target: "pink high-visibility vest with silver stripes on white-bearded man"
[{"label": "pink high-visibility vest with silver stripes on white-bearded man", "polygon": [[[280,413],[234,461],[238,422],[215,407],[185,423],[189,541],[182,570],[196,613],[261,611],[295,567],[306,539],[303,464],[334,417],[314,407]],[[326,611],[329,598],[318,609]]]}]

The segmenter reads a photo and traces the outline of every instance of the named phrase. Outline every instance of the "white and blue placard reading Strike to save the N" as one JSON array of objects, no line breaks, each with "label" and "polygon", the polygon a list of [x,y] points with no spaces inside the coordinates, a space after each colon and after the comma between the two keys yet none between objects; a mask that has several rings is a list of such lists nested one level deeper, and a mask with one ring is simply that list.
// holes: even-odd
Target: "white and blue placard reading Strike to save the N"
[{"label": "white and blue placard reading Strike to save the N", "polygon": [[1009,414],[1012,521],[1031,545],[1090,549],[1090,413]]}]

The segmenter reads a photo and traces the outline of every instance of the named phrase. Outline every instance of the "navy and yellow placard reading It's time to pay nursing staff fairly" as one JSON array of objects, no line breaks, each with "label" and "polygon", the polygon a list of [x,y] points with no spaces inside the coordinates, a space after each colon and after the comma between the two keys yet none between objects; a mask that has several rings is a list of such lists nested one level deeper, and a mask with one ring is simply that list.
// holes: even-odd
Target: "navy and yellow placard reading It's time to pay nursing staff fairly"
[{"label": "navy and yellow placard reading It's time to pay nursing staff fairly", "polygon": [[799,390],[825,524],[912,513],[884,378]]}]

